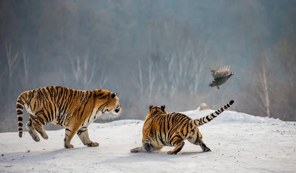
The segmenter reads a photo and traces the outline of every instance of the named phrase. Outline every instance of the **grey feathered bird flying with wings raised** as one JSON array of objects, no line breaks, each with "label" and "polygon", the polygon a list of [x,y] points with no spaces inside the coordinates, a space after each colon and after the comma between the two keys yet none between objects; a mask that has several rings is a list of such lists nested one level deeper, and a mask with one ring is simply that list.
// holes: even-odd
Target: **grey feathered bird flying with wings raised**
[{"label": "grey feathered bird flying with wings raised", "polygon": [[230,66],[224,66],[220,69],[218,69],[218,64],[214,64],[215,66],[215,69],[213,68],[210,68],[210,71],[211,71],[211,75],[213,76],[214,78],[214,81],[212,81],[211,84],[209,84],[209,87],[217,87],[217,90],[220,89],[219,86],[221,86],[222,84],[224,84],[232,75],[234,75],[235,73],[233,71],[231,71],[231,73],[229,75],[228,72],[229,72],[229,69],[230,69]]}]

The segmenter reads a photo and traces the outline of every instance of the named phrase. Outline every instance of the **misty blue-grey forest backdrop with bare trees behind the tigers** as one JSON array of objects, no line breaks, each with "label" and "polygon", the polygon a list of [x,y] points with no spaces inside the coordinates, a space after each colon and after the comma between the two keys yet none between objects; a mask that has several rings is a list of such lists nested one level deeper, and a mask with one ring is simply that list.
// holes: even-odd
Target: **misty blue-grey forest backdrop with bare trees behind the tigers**
[{"label": "misty blue-grey forest backdrop with bare trees behind the tigers", "polygon": [[[219,91],[214,63],[236,72]],[[117,92],[121,116],[96,122],[231,99],[296,121],[296,0],[0,0],[0,132],[18,129],[17,97],[45,86]]]}]

